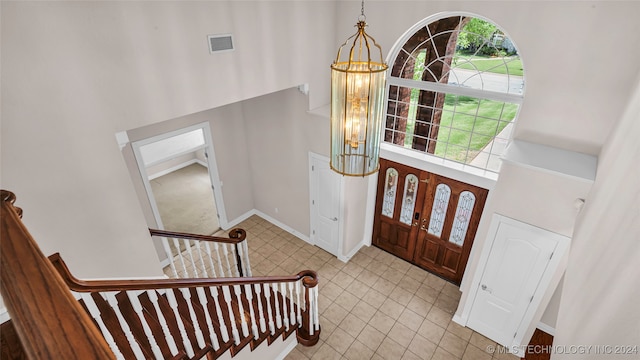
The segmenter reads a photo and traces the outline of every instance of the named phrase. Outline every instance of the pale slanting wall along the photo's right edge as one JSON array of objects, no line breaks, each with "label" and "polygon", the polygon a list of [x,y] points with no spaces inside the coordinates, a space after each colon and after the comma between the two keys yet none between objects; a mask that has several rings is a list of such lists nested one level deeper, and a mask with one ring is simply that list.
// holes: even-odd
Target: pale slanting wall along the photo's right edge
[{"label": "pale slanting wall along the photo's right edge", "polygon": [[[576,225],[554,345],[640,346],[640,81],[637,84],[602,151],[595,184]],[[607,359],[638,356],[634,354]],[[592,351],[579,358],[602,355]]]}]

